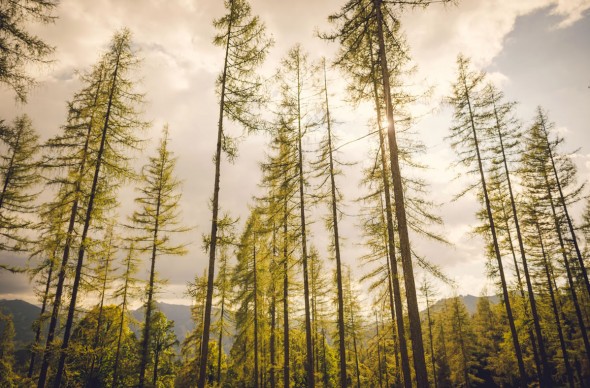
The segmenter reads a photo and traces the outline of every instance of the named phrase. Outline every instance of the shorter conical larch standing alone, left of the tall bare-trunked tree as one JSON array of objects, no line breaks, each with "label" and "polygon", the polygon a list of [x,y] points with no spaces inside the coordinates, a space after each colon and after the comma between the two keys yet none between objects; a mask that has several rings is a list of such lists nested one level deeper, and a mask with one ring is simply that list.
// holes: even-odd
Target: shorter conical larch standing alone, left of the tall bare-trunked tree
[{"label": "shorter conical larch standing alone, left of the tall bare-trunked tree", "polygon": [[156,261],[162,255],[186,253],[183,244],[171,241],[172,235],[188,229],[179,226],[180,181],[174,176],[176,158],[169,150],[169,141],[168,127],[164,127],[156,155],[150,157],[148,164],[143,168],[139,195],[135,199],[139,209],[131,216],[132,227],[138,233],[136,249],[140,253],[147,253],[150,262],[141,340],[140,387],[145,385],[149,361],[152,313],[157,288]]}]

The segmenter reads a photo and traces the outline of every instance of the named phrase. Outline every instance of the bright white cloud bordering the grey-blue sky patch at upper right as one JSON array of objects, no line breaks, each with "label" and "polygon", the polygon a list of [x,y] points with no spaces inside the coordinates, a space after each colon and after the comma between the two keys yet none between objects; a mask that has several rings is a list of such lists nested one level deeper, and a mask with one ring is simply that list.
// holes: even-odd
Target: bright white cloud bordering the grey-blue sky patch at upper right
[{"label": "bright white cloud bordering the grey-blue sky patch at upper right", "polygon": [[446,95],[459,53],[486,68],[503,50],[516,20],[544,8],[559,16],[558,26],[565,28],[582,18],[590,0],[465,0],[409,12],[402,22],[420,75],[440,85],[438,95]]}]

